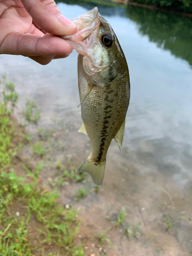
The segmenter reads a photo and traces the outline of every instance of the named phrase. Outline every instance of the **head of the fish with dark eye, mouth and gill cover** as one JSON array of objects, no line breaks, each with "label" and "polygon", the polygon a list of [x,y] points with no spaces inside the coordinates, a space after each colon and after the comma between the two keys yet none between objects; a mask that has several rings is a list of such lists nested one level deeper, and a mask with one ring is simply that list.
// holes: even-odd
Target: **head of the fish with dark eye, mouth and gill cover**
[{"label": "head of the fish with dark eye, mouth and gill cover", "polygon": [[62,38],[83,55],[84,72],[94,84],[109,84],[120,72],[119,56],[123,54],[111,25],[97,7],[73,18],[72,22],[77,26],[77,33]]}]

